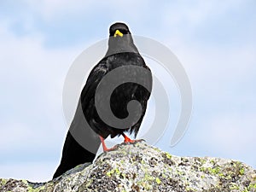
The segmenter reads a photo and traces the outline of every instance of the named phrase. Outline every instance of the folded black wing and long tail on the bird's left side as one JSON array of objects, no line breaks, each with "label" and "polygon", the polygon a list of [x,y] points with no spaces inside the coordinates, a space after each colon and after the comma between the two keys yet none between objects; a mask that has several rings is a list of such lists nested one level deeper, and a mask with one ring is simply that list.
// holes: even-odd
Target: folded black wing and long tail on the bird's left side
[{"label": "folded black wing and long tail on the bird's left side", "polygon": [[[54,178],[60,176],[63,172],[84,162],[92,162],[96,156],[96,151],[100,146],[100,139],[85,126],[84,113],[82,106],[85,107],[91,102],[96,86],[102,77],[108,72],[104,62],[100,62],[91,71],[84,89],[81,93],[77,110],[74,114],[73,121],[67,132],[67,137],[62,150],[61,164],[57,168]],[[81,108],[82,107],[82,108]],[[90,150],[84,148],[86,144],[91,143]],[[82,147],[83,146],[83,147]],[[92,153],[93,152],[93,153]]]}]

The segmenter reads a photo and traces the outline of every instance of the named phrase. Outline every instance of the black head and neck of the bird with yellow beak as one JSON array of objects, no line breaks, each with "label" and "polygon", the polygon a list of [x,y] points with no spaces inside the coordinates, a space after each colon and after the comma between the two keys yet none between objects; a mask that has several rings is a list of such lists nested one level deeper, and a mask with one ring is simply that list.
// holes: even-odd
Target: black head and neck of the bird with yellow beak
[{"label": "black head and neck of the bird with yellow beak", "polygon": [[114,23],[109,27],[108,52],[112,55],[119,52],[138,52],[133,44],[131,32],[125,23]]}]

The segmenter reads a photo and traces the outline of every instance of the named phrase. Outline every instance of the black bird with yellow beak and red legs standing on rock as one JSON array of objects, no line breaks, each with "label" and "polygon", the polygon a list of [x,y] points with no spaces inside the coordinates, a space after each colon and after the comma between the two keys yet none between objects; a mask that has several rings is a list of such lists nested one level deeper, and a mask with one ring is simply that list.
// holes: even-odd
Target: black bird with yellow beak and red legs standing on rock
[{"label": "black bird with yellow beak and red legs standing on rock", "polygon": [[[109,72],[112,72],[113,69],[127,66],[143,67],[148,71],[148,73],[137,74],[137,76],[143,78],[145,84],[148,84],[148,89],[142,84],[128,82],[120,84],[113,90],[110,97],[110,107],[116,118],[125,119],[130,115],[127,111],[127,104],[131,100],[140,102],[142,107],[137,122],[133,122],[131,126],[126,128],[116,128],[105,123],[97,113],[96,89],[101,80]],[[137,71],[131,70],[131,73],[137,73]],[[128,26],[124,23],[114,23],[109,28],[107,54],[91,70],[84,89],[81,92],[77,111],[67,132],[66,141],[62,150],[61,164],[56,170],[54,178],[61,176],[62,173],[67,172],[67,170],[79,164],[92,162],[101,142],[103,150],[108,151],[109,149],[104,143],[104,139],[108,136],[113,138],[122,135],[125,137],[125,143],[134,142],[134,140],[126,137],[124,132],[128,131],[134,133],[135,137],[137,136],[146,112],[151,89],[152,74],[133,43]],[[137,111],[134,111],[134,113],[137,113]],[[90,128],[88,126],[85,128],[86,122],[90,125]],[[87,148],[88,143],[90,148]]]}]

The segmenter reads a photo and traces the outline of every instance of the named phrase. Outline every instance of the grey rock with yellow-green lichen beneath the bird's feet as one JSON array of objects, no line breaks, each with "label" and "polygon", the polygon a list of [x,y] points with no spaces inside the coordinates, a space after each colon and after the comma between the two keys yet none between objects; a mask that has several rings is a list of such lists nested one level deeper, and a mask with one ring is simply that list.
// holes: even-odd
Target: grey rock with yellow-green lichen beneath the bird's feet
[{"label": "grey rock with yellow-green lichen beneath the bird's feet", "polygon": [[256,171],[239,161],[177,157],[145,142],[122,143],[48,183],[0,179],[0,191],[256,192]]}]

